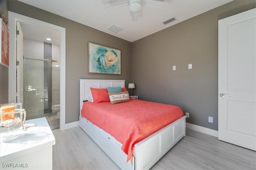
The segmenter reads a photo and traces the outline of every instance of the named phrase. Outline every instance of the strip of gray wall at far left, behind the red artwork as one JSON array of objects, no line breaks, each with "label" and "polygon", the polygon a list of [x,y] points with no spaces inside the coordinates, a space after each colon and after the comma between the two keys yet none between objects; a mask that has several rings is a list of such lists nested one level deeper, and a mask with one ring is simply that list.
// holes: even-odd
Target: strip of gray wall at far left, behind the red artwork
[{"label": "strip of gray wall at far left, behind the red artwork", "polygon": [[[0,15],[8,20],[7,1],[0,0]],[[0,104],[8,103],[8,67],[0,65]]]}]

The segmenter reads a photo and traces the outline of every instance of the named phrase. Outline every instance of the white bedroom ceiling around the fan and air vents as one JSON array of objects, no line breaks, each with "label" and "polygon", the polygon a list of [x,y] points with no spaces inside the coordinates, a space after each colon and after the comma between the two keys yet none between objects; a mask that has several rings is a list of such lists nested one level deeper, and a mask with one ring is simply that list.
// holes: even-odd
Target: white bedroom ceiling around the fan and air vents
[{"label": "white bedroom ceiling around the fan and air vents", "polygon": [[[133,42],[232,0],[158,0],[168,3],[164,9],[144,6],[142,0],[142,10],[139,12],[138,21],[134,22],[129,6],[120,6],[112,10],[104,8],[127,0],[19,1]],[[177,20],[167,25],[162,23],[173,17]],[[118,25],[123,30],[118,33],[109,31],[107,28],[112,24]]]}]

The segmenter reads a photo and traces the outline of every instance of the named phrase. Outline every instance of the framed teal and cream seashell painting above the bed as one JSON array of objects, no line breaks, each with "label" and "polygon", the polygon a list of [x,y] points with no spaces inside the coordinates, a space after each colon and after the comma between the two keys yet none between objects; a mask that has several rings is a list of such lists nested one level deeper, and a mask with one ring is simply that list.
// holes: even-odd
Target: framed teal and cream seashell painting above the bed
[{"label": "framed teal and cream seashell painting above the bed", "polygon": [[88,72],[121,75],[121,50],[88,42]]}]

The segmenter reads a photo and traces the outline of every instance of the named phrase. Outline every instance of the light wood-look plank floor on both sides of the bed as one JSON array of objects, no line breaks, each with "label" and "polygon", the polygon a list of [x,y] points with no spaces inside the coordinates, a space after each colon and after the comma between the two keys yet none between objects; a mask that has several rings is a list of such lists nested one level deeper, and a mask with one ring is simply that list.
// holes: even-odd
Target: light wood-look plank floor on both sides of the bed
[{"label": "light wood-look plank floor on both sides of the bed", "polygon": [[[118,166],[80,128],[52,131],[54,170],[116,170]],[[256,152],[186,129],[152,170],[256,170]]]}]

